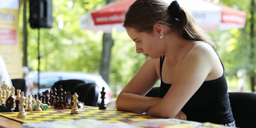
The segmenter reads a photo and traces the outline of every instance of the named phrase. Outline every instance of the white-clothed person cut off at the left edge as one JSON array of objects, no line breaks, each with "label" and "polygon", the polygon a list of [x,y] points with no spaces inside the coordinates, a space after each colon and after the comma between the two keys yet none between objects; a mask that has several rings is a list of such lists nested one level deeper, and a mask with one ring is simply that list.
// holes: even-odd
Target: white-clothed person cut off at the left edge
[{"label": "white-clothed person cut off at the left edge", "polygon": [[5,84],[8,85],[9,87],[13,86],[10,75],[5,66],[5,62],[2,56],[0,55],[0,87],[3,85],[3,82],[5,82]]}]

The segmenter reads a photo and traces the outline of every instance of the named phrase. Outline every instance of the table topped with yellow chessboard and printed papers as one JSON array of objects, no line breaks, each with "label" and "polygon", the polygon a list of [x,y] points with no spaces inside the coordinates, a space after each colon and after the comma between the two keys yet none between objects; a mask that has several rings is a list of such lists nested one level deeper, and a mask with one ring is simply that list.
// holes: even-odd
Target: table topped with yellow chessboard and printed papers
[{"label": "table topped with yellow chessboard and printed papers", "polygon": [[[214,127],[214,128],[225,128],[224,126],[212,124],[212,123],[199,123],[191,122],[179,119],[161,119],[153,116],[144,114],[137,114],[131,112],[117,111],[113,109],[99,110],[97,107],[85,106],[84,109],[80,109],[80,114],[70,114],[70,110],[54,110],[48,109],[47,111],[33,111],[26,112],[27,118],[17,121],[17,113],[0,113],[0,128],[22,128],[22,122],[25,123],[25,127],[33,126],[34,128],[47,126],[55,126],[65,124],[73,124],[75,127],[85,127],[87,125],[96,128],[162,128],[169,126],[169,128],[199,128],[199,127]],[[33,113],[33,114],[32,114]],[[35,114],[37,113],[37,114]],[[3,117],[7,116],[16,118],[15,120]],[[37,123],[31,123],[32,122]],[[37,118],[37,119],[34,119]],[[53,121],[55,120],[55,121]],[[51,122],[49,122],[51,121]],[[93,123],[92,123],[93,122]],[[123,123],[125,122],[125,123]],[[27,124],[29,123],[29,124]],[[47,125],[46,125],[47,124]],[[43,126],[46,125],[46,126]],[[76,126],[77,125],[77,126]]]}]

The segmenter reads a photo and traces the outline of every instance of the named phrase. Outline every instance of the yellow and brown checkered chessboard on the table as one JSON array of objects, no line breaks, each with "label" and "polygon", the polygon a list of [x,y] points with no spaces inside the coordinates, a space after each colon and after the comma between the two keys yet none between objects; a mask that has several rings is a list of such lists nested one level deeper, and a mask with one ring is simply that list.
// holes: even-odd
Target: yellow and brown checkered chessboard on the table
[{"label": "yellow and brown checkered chessboard on the table", "polygon": [[70,114],[71,110],[47,110],[26,112],[27,118],[17,118],[18,112],[0,113],[22,123],[37,123],[46,121],[65,121],[76,119],[96,119],[103,122],[128,122],[157,119],[156,117],[117,111],[113,109],[99,110],[98,108],[79,109],[79,114]]}]

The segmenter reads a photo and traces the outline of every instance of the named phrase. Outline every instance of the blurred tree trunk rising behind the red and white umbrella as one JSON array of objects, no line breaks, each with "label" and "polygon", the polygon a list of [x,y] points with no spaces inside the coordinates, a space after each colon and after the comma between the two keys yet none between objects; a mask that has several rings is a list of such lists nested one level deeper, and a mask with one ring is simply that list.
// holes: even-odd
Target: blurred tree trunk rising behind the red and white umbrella
[{"label": "blurred tree trunk rising behind the red and white umbrella", "polygon": [[[106,3],[114,2],[115,0],[106,0]],[[110,60],[111,60],[111,49],[114,45],[114,41],[111,37],[111,33],[103,33],[102,37],[102,56],[100,62],[100,74],[105,80],[106,83],[109,84],[109,73],[110,73]]]}]

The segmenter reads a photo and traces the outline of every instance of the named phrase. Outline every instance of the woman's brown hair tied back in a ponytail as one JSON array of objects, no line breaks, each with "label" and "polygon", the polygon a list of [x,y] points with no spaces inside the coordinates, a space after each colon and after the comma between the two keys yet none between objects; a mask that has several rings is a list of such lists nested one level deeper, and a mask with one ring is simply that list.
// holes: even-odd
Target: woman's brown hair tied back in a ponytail
[{"label": "woman's brown hair tied back in a ponytail", "polygon": [[181,18],[172,17],[168,4],[161,0],[137,0],[125,14],[124,27],[132,27],[138,32],[151,33],[156,23],[168,25],[185,39],[203,41],[215,48],[209,35],[199,28],[193,15],[181,8]]}]

